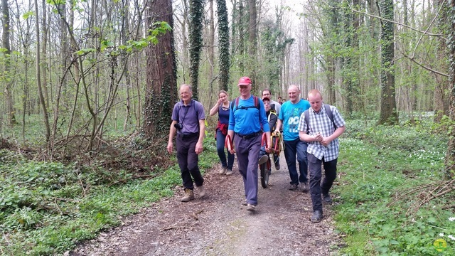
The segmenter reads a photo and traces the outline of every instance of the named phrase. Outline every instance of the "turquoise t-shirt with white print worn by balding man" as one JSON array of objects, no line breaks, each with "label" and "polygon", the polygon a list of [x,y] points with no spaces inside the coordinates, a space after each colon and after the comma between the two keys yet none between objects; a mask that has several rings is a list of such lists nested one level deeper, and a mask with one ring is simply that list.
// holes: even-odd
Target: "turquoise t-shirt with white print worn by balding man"
[{"label": "turquoise t-shirt with white print worn by balding man", "polygon": [[293,141],[299,139],[299,122],[301,114],[310,108],[308,100],[300,100],[292,104],[290,100],[284,102],[278,118],[282,120],[283,140]]}]

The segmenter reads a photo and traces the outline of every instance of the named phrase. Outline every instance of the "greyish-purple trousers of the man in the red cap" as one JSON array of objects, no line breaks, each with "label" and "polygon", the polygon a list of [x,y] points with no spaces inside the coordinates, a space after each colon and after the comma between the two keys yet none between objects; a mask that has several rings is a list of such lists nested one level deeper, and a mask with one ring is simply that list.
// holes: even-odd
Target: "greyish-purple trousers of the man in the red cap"
[{"label": "greyish-purple trousers of the man in the red cap", "polygon": [[243,178],[247,203],[257,205],[257,163],[261,148],[261,134],[250,139],[234,136],[235,151],[240,174]]}]

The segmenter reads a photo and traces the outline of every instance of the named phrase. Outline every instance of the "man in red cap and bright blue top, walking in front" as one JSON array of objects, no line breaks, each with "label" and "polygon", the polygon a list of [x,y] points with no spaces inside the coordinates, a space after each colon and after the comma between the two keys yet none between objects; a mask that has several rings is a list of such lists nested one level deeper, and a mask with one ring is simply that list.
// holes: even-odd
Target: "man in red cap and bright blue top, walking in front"
[{"label": "man in red cap and bright blue top, walking in front", "polygon": [[237,152],[237,164],[243,177],[247,210],[255,210],[257,206],[257,164],[262,130],[267,135],[267,152],[271,151],[272,142],[264,103],[251,95],[250,78],[240,78],[238,87],[240,97],[232,101],[229,114],[228,135],[234,138],[235,144],[235,149],[231,149],[230,152],[232,154]]}]

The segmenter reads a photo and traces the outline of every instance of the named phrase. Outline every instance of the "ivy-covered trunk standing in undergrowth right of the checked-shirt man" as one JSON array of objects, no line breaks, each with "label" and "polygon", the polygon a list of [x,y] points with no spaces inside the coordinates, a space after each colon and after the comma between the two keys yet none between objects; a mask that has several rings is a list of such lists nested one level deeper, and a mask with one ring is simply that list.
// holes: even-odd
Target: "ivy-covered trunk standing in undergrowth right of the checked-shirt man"
[{"label": "ivy-covered trunk standing in undergrowth right of the checked-shirt man", "polygon": [[[393,31],[393,0],[379,2],[381,19],[381,109],[378,124],[397,124],[395,100],[395,41]],[[388,21],[386,21],[388,20]]]}]

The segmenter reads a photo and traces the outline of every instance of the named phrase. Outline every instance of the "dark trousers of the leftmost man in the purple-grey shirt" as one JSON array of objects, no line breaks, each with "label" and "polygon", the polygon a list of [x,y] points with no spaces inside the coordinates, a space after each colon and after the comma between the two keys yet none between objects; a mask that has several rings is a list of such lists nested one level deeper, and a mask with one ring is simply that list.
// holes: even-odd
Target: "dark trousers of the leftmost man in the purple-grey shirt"
[{"label": "dark trousers of the leftmost man in the purple-grey shirt", "polygon": [[181,171],[183,187],[191,190],[194,188],[193,179],[196,186],[201,186],[204,182],[204,178],[199,171],[198,154],[195,151],[198,139],[198,134],[190,137],[183,137],[183,135],[177,134],[176,139],[177,161]]}]

